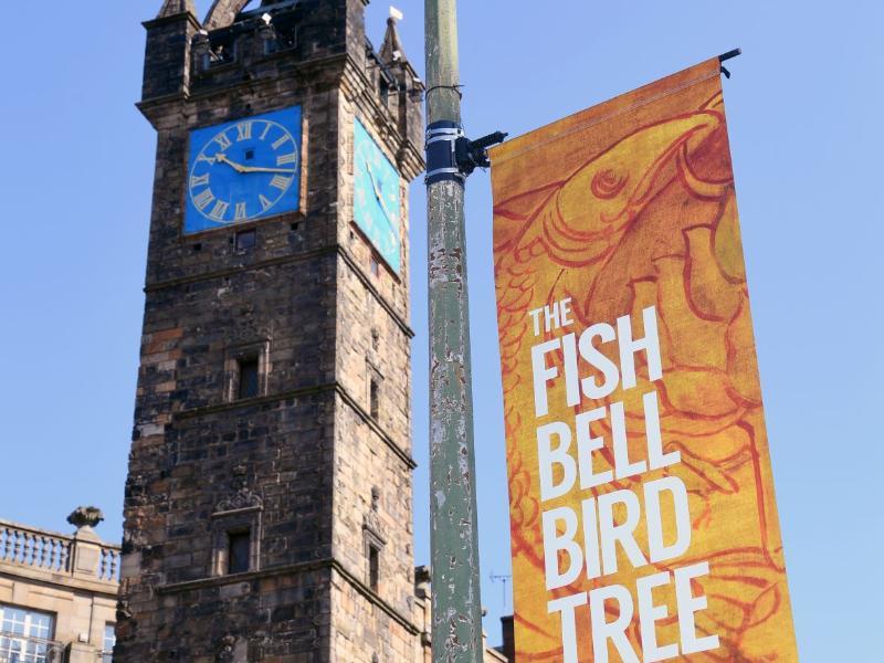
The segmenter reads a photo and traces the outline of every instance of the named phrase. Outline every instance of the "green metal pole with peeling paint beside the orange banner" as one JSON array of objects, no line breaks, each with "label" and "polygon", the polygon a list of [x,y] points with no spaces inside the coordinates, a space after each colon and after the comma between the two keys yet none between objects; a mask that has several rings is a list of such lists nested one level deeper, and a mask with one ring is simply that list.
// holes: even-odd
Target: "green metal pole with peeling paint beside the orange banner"
[{"label": "green metal pole with peeling paint beside the orange banner", "polygon": [[[460,126],[456,0],[425,0],[425,22],[427,120]],[[463,202],[463,178],[428,182],[433,663],[484,654]]]}]

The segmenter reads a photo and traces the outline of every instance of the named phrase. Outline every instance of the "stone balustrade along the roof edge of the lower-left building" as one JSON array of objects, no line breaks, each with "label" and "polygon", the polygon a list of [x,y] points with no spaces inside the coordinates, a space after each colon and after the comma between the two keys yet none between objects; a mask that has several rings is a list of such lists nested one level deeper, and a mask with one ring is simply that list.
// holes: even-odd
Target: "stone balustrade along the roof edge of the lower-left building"
[{"label": "stone balustrade along the roof edge of the lower-left building", "polygon": [[119,582],[119,546],[0,519],[0,565]]}]

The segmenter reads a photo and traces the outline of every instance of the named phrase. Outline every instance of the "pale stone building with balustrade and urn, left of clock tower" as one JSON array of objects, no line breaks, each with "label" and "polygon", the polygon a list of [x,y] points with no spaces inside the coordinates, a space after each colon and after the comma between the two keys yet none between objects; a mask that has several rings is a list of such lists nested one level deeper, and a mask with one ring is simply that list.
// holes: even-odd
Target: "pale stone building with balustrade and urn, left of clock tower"
[{"label": "pale stone building with balustrade and urn, left of clock tower", "polygon": [[78,508],[69,536],[0,519],[0,663],[110,661],[119,546]]}]

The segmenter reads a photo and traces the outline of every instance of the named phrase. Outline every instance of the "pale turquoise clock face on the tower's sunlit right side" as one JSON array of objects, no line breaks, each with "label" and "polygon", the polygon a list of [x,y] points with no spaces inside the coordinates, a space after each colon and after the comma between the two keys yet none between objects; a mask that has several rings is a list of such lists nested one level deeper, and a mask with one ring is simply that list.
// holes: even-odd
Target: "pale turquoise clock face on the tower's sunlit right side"
[{"label": "pale turquoise clock face on the tower's sunlit right side", "polygon": [[354,220],[380,256],[399,273],[399,172],[358,119],[354,127]]}]

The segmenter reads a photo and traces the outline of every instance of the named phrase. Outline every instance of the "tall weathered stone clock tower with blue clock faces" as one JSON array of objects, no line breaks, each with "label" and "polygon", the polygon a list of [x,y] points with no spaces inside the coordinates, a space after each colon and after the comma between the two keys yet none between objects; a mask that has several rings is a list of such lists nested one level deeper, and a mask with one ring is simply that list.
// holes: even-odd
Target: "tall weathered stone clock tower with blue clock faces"
[{"label": "tall weathered stone clock tower with blue clock faces", "polygon": [[368,0],[166,0],[115,661],[422,660],[407,185]]}]

